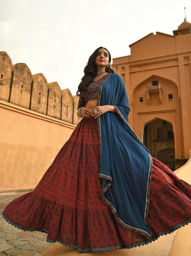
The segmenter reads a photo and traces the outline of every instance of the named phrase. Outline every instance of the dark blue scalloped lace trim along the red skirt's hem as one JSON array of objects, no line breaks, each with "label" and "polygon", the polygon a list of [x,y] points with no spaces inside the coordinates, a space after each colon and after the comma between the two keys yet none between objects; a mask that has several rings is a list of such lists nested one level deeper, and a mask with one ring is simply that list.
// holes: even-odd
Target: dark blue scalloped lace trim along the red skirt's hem
[{"label": "dark blue scalloped lace trim along the red skirt's hem", "polygon": [[[48,233],[47,230],[45,229],[39,229],[39,230],[33,230],[33,229],[24,229],[22,227],[20,227],[19,225],[16,225],[15,223],[13,223],[12,221],[10,221],[8,219],[8,217],[5,216],[4,212],[2,212],[2,215],[4,217],[4,219],[11,225],[15,226],[16,228],[18,229],[21,229],[21,230],[24,230],[24,231],[30,231],[30,232],[33,232],[33,231],[39,231],[39,232],[42,232],[42,233]],[[147,241],[142,241],[142,242],[139,242],[139,243],[134,243],[134,244],[129,244],[128,246],[125,246],[124,244],[123,245],[118,245],[118,246],[114,246],[114,247],[105,247],[105,248],[78,248],[77,245],[75,244],[69,244],[69,243],[63,243],[61,240],[59,239],[56,239],[56,240],[50,240],[47,238],[47,242],[48,243],[55,243],[55,242],[59,242],[61,243],[62,245],[64,246],[69,246],[69,247],[73,247],[73,248],[76,248],[77,251],[79,252],[87,252],[87,251],[92,251],[92,252],[96,252],[96,251],[110,251],[110,250],[116,250],[116,249],[130,249],[130,248],[133,248],[133,247],[137,247],[137,246],[141,246],[141,245],[145,245],[145,244],[148,244],[148,243],[151,243],[155,240],[157,240],[161,235],[167,235],[167,234],[170,234],[172,232],[174,232],[175,230],[181,228],[182,226],[185,226],[185,225],[188,225],[189,223],[191,223],[191,219],[189,220],[186,220],[185,222],[183,223],[180,223],[176,226],[173,226],[171,229],[167,230],[167,231],[164,231],[164,232],[161,232],[161,233],[158,233],[156,234],[155,237],[152,237],[151,239],[147,240]]]}]

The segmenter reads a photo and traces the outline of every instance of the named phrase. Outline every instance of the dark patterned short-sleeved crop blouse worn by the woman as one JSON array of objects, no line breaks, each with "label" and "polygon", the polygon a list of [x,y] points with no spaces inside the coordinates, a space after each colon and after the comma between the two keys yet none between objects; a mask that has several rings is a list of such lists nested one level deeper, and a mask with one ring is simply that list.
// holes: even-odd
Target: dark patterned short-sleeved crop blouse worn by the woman
[{"label": "dark patterned short-sleeved crop blouse worn by the woman", "polygon": [[91,81],[87,90],[80,92],[80,99],[78,102],[77,109],[86,107],[86,103],[89,99],[100,99],[101,87],[110,75],[111,73],[107,73],[105,76],[102,76],[99,80]]}]

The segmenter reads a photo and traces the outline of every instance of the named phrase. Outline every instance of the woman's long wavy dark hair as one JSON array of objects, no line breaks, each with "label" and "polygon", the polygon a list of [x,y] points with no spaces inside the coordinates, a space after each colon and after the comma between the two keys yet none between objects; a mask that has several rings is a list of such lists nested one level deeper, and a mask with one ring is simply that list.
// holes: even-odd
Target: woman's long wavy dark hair
[{"label": "woman's long wavy dark hair", "polygon": [[[94,77],[96,76],[96,72],[97,72],[97,66],[95,64],[95,59],[97,57],[97,52],[99,49],[105,49],[108,51],[108,49],[104,48],[104,47],[98,47],[93,53],[92,55],[90,56],[89,60],[88,60],[88,63],[86,65],[86,67],[84,68],[84,76],[82,77],[82,81],[80,82],[80,84],[78,85],[78,90],[76,92],[76,95],[77,96],[80,96],[80,92],[81,91],[86,91],[87,90],[87,87],[89,86],[90,82],[94,79]],[[108,51],[108,54],[109,54],[109,67],[105,68],[105,72],[107,73],[114,73],[113,69],[111,68],[110,66],[110,63],[111,63],[111,54],[110,52]]]}]

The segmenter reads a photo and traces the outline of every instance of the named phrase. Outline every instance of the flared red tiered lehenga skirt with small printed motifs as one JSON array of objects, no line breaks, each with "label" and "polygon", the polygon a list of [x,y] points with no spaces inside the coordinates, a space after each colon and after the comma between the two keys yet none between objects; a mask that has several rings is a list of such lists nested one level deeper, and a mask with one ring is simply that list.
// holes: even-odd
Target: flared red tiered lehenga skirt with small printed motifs
[{"label": "flared red tiered lehenga skirt with small printed motifs", "polygon": [[[97,119],[83,118],[37,187],[6,206],[10,224],[47,233],[78,251],[132,248],[191,222],[191,186],[153,157],[147,224],[152,236],[123,228],[102,199]],[[120,184],[119,184],[120,189]]]}]

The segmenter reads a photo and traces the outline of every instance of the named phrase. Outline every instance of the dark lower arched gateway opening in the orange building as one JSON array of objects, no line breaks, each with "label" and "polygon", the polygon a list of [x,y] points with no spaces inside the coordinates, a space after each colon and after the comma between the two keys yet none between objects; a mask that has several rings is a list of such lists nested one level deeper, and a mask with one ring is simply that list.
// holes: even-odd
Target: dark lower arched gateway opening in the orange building
[{"label": "dark lower arched gateway opening in the orange building", "polygon": [[175,140],[171,122],[156,118],[147,123],[143,143],[155,157],[175,171]]}]

